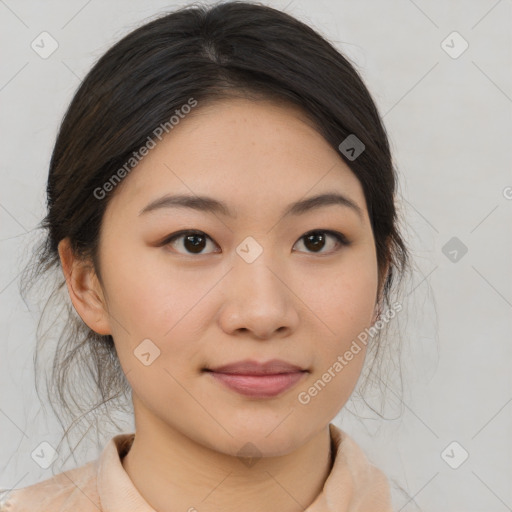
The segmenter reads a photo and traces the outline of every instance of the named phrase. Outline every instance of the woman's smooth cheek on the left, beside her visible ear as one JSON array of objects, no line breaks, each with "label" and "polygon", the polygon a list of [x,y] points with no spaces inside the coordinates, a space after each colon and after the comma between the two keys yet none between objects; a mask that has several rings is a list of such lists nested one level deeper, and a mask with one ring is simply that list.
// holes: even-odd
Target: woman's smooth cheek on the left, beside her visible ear
[{"label": "woman's smooth cheek on the left, beside her visible ear", "polygon": [[133,390],[148,400],[172,396],[185,407],[187,396],[178,382],[197,377],[201,322],[211,316],[204,296],[218,277],[178,269],[165,258],[128,257],[108,270],[112,334]]}]

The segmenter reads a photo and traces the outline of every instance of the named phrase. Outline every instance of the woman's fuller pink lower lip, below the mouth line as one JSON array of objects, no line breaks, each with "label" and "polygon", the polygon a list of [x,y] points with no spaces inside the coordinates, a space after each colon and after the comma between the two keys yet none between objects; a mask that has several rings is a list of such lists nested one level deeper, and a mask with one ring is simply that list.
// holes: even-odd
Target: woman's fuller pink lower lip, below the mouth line
[{"label": "woman's fuller pink lower lip, below the mouth line", "polygon": [[238,375],[208,372],[228,388],[245,396],[269,398],[279,395],[297,384],[307,372],[273,375]]}]

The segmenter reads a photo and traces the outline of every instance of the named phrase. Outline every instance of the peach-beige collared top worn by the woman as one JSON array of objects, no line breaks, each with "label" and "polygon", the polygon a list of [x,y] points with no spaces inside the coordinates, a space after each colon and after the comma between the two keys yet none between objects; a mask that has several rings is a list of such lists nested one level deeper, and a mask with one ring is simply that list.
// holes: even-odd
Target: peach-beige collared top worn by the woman
[{"label": "peach-beige collared top worn by the woman", "polygon": [[[389,483],[343,430],[329,425],[336,447],[322,492],[304,512],[393,512]],[[119,434],[100,457],[31,486],[0,491],[1,512],[155,512],[139,494],[121,460],[134,434]]]}]

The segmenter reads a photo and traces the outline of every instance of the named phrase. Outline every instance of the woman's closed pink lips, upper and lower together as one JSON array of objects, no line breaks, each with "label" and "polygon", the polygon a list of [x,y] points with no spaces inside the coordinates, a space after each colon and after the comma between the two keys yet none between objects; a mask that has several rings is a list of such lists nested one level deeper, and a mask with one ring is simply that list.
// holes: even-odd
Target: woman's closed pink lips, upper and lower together
[{"label": "woman's closed pink lips, upper and lower together", "polygon": [[294,386],[307,370],[286,361],[273,359],[266,363],[240,361],[208,372],[216,380],[242,395],[269,398]]}]

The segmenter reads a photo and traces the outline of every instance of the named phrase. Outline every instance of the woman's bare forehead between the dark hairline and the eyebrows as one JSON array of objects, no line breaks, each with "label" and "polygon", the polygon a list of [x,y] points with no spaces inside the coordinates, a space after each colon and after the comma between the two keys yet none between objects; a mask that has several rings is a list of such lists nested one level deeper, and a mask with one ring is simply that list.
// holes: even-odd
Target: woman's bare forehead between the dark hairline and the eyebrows
[{"label": "woman's bare forehead between the dark hairline and the eyebrows", "polygon": [[361,185],[300,108],[229,99],[195,107],[124,178],[110,209],[163,194],[209,195],[254,215],[326,191],[365,209]]}]

